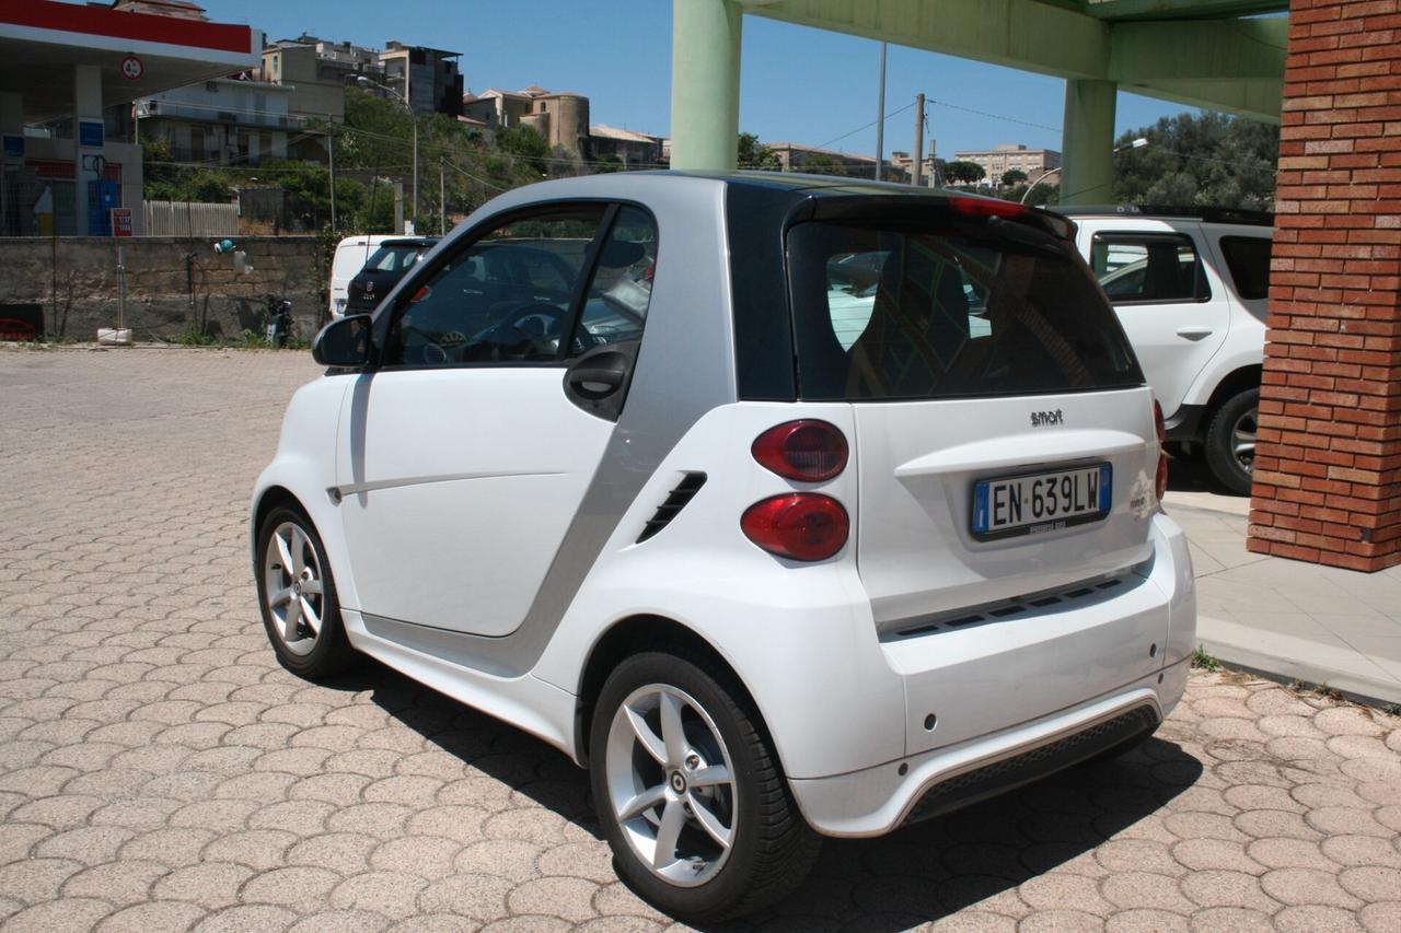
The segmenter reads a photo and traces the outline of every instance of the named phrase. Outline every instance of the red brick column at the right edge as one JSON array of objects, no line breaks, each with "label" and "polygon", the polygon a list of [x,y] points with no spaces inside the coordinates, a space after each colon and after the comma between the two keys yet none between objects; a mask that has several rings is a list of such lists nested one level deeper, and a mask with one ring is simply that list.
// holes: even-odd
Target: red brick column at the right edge
[{"label": "red brick column at the right edge", "polygon": [[1401,11],[1292,0],[1248,548],[1401,563]]}]

